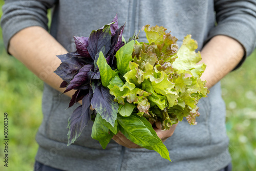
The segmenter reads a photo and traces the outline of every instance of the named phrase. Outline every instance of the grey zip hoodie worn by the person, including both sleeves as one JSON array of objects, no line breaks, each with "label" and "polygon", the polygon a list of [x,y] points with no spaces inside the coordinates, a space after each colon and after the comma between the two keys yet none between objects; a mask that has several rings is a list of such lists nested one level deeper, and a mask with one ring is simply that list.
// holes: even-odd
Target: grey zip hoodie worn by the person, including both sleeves
[{"label": "grey zip hoodie worn by the person, including both sleeves", "polygon": [[[10,38],[24,28],[40,26],[48,30],[49,8],[53,8],[50,33],[69,52],[76,50],[73,36],[88,37],[92,30],[110,23],[116,13],[119,27],[126,22],[125,39],[150,24],[172,31],[172,35],[178,38],[179,47],[187,34],[197,40],[198,50],[211,37],[226,35],[243,45],[244,60],[256,46],[255,0],[41,0],[5,3],[1,26],[6,49]],[[139,34],[139,41],[146,41],[143,31]],[[210,89],[208,97],[199,100],[201,116],[197,118],[198,124],[189,125],[185,119],[178,124],[174,135],[164,142],[172,162],[161,158],[155,151],[125,148],[113,140],[102,149],[98,141],[91,138],[92,121],[77,141],[67,146],[68,118],[78,104],[67,109],[70,98],[59,94],[48,84],[44,85],[44,119],[36,135],[39,148],[35,159],[45,165],[63,170],[212,171],[224,168],[231,161],[220,83]]]}]

